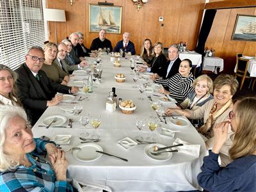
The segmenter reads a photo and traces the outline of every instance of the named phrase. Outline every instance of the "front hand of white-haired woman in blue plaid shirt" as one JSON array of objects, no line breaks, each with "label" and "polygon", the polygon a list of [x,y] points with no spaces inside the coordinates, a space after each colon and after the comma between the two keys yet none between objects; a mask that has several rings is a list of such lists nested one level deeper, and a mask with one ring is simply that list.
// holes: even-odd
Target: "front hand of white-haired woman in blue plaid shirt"
[{"label": "front hand of white-haired woman in blue plaid shirt", "polygon": [[58,148],[56,158],[54,159],[54,157],[50,155],[49,160],[52,164],[52,169],[56,173],[56,180],[66,180],[68,161],[65,157],[65,152]]}]

